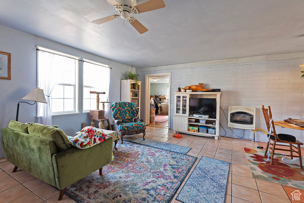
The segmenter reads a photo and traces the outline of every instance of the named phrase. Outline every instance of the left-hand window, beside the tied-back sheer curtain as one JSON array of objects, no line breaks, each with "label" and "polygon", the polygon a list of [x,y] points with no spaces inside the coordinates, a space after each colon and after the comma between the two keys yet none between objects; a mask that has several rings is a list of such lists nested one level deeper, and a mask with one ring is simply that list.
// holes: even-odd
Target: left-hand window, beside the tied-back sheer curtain
[{"label": "left-hand window, beside the tied-back sheer curtain", "polygon": [[[45,94],[50,99],[52,115],[78,112],[79,58],[39,47],[38,86],[47,81]],[[49,72],[48,72],[49,70]],[[45,72],[40,78],[39,72]]]}]

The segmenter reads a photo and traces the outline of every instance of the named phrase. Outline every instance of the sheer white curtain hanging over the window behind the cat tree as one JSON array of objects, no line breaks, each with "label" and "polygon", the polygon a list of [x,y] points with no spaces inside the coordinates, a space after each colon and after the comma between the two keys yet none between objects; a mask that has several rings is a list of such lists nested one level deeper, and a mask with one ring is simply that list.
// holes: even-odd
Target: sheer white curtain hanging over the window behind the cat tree
[{"label": "sheer white curtain hanging over the window behind the cat tree", "polygon": [[[84,73],[84,86],[92,86],[94,87],[91,91],[96,92],[105,92],[105,94],[100,94],[100,102],[109,101],[109,88],[110,88],[110,68],[104,67],[97,64],[92,64],[87,61],[83,61],[83,73]],[[89,91],[88,88],[84,88],[84,91]],[[88,94],[88,92],[84,92],[84,95]],[[92,103],[96,103],[93,101]],[[91,110],[96,109],[96,104],[94,107],[91,105]],[[101,106],[99,107],[101,109]],[[105,103],[105,117],[110,116],[110,105],[109,103]]]}]

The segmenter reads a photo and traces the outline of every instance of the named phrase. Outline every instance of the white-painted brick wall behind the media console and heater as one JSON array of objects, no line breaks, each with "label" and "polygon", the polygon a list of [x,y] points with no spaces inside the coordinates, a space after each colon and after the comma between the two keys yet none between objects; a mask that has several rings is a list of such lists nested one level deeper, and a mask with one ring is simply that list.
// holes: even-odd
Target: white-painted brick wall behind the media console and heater
[{"label": "white-painted brick wall behind the media console and heater", "polygon": [[[144,83],[145,74],[171,72],[171,126],[173,128],[174,115],[174,91],[179,86],[197,85],[204,83],[208,89],[220,88],[222,96],[220,106],[226,118],[229,106],[248,106],[256,108],[256,129],[262,128],[267,131],[264,116],[261,110],[262,105],[271,106],[274,120],[283,120],[288,117],[304,119],[304,79],[300,79],[301,70],[299,65],[304,59],[289,59],[277,61],[262,61],[235,63],[228,65],[212,65],[195,68],[164,69],[153,71],[137,72],[140,80]],[[144,95],[142,83],[141,95]],[[143,97],[144,98],[144,97]],[[144,99],[142,99],[144,107]],[[220,110],[220,123],[226,131],[226,136],[238,138],[243,136],[243,130],[227,127],[227,121]],[[144,117],[143,111],[141,117]],[[220,128],[220,135],[224,135],[223,128]],[[304,142],[304,131],[292,130],[289,128],[276,128],[277,133],[289,133]],[[244,138],[253,139],[253,131],[245,130]],[[267,137],[262,131],[256,131],[255,139],[266,142]]]}]

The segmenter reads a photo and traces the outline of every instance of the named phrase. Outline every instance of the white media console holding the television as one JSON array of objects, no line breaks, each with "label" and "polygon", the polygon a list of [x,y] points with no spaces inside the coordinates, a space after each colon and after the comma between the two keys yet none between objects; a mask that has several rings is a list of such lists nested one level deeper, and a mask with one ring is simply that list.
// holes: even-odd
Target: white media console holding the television
[{"label": "white media console holding the television", "polygon": [[[174,116],[173,116],[173,131],[187,133],[190,135],[213,136],[217,140],[219,137],[219,99],[221,92],[174,92]],[[200,118],[189,116],[189,98],[214,98],[216,99],[216,117],[215,118]],[[189,122],[189,119],[206,119],[206,124],[199,122]],[[188,131],[188,126],[205,125],[215,128],[215,135],[202,132]]]}]

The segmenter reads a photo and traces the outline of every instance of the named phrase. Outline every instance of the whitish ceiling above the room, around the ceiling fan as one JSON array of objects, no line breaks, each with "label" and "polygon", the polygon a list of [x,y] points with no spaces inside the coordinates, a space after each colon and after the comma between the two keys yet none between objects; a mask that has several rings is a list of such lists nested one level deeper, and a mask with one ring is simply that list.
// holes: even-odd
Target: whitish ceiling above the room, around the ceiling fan
[{"label": "whitish ceiling above the room, around the ceiling fan", "polygon": [[121,18],[92,23],[118,14],[106,0],[0,0],[0,25],[135,68],[304,51],[303,0],[164,2],[131,15],[143,34]]}]

